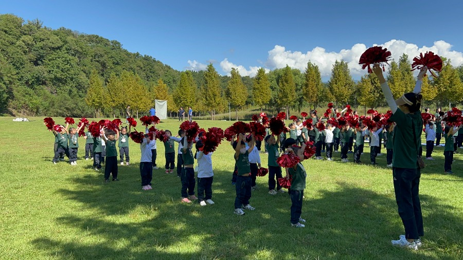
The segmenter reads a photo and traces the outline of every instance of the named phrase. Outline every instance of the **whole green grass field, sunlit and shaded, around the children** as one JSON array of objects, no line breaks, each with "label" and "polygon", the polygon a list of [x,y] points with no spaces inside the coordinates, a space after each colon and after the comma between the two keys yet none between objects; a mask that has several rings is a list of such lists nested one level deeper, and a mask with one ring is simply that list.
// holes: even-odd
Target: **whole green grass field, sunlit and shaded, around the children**
[{"label": "whole green grass field, sunlit and shaded, around the children", "polygon": [[[54,137],[42,119],[0,118],[0,259],[463,259],[463,156],[455,155],[455,174],[446,175],[442,147],[422,171],[425,236],[423,247],[410,251],[390,245],[404,232],[385,155],[379,167],[341,163],[339,153],[334,162],[305,161],[307,223],[296,229],[288,194],[269,195],[266,177],[258,177],[251,198],[256,210],[233,214],[227,142],[212,156],[216,204],[201,207],[182,204],[180,179],[163,169],[153,171],[153,190],[142,191],[133,142],[131,165],[119,165],[117,183],[103,183],[103,173],[82,159],[83,138],[77,166],[67,158],[52,165]],[[158,128],[176,132],[178,126],[169,120]],[[164,145],[157,154],[164,165]],[[266,165],[266,155],[261,159]]]}]

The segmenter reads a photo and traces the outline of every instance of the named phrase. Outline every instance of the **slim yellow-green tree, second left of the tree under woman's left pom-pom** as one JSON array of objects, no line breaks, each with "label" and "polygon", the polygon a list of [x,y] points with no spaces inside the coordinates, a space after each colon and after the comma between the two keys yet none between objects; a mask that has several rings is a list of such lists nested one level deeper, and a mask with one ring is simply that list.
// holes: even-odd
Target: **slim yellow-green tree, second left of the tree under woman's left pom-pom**
[{"label": "slim yellow-green tree, second left of the tree under woman's left pom-pom", "polygon": [[322,94],[322,76],[318,66],[312,62],[307,63],[306,71],[304,72],[304,88],[302,88],[302,96],[304,99],[313,105],[313,108],[317,106],[320,101],[320,94]]}]

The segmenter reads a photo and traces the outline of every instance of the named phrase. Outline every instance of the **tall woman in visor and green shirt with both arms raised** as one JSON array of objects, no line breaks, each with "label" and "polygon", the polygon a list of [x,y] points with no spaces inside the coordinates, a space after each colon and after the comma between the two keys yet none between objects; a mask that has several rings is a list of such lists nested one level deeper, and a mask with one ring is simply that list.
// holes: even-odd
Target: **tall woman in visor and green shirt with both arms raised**
[{"label": "tall woman in visor and green shirt with both arms raised", "polygon": [[417,163],[421,146],[421,83],[428,67],[423,67],[413,92],[403,94],[394,100],[392,92],[383,76],[382,68],[376,64],[373,71],[378,76],[384,97],[393,115],[390,120],[396,122],[393,139],[393,178],[394,191],[399,215],[405,228],[405,235],[392,240],[393,245],[417,250],[421,246],[420,236],[424,235],[421,214],[419,185],[421,170]]}]

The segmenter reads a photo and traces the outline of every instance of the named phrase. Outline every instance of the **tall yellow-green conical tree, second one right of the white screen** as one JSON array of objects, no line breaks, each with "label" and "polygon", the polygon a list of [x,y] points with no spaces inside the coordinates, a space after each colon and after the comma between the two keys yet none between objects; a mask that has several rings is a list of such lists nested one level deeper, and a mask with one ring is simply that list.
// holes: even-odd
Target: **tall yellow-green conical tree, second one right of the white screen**
[{"label": "tall yellow-green conical tree, second one right of the white screen", "polygon": [[210,110],[212,120],[216,119],[216,110],[220,107],[222,99],[220,96],[220,79],[219,73],[217,73],[212,63],[207,65],[207,70],[204,72],[205,84],[197,95],[198,99],[201,99],[201,103]]}]

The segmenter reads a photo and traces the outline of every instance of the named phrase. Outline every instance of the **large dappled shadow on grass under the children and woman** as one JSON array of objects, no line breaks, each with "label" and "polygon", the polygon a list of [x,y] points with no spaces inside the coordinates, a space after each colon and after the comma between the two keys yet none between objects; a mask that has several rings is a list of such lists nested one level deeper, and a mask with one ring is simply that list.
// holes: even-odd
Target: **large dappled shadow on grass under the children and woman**
[{"label": "large dappled shadow on grass under the children and woman", "polygon": [[[463,219],[432,196],[421,196],[425,222],[422,250],[390,246],[403,234],[392,196],[338,183],[335,191],[306,190],[305,229],[291,228],[287,194],[253,193],[256,211],[233,214],[230,172],[218,171],[215,205],[180,202],[176,174],[153,171],[152,191],[141,191],[138,165],[120,166],[117,183],[103,184],[102,173],[71,181],[59,195],[78,202],[74,213],[56,221],[77,230],[74,239],[43,236],[33,245],[60,259],[440,259],[461,255]],[[308,188],[309,188],[308,184]],[[83,214],[83,213],[85,214]],[[430,253],[430,250],[431,253]],[[458,253],[459,252],[459,253]]]}]

